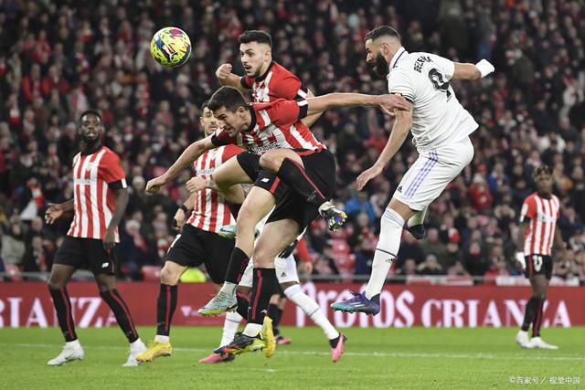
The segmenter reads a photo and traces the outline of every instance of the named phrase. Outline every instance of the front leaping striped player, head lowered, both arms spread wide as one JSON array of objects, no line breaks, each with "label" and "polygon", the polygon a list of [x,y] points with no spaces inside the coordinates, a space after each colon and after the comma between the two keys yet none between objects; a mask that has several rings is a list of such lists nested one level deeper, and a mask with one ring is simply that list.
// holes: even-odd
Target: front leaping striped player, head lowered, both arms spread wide
[{"label": "front leaping striped player, head lowered, both arms spread wide", "polygon": [[[225,164],[220,168],[223,171],[229,166],[233,184],[254,183],[239,212],[236,248],[231,255],[232,259],[239,258],[239,263],[244,264],[252,258],[253,252],[254,271],[246,329],[216,353],[243,353],[261,348],[267,357],[273,353],[274,345],[268,343],[270,337],[262,336],[267,341],[265,345],[260,333],[271,293],[277,284],[274,258],[318,215],[319,206],[335,190],[333,154],[300,120],[325,110],[356,106],[379,106],[391,112],[406,107],[407,103],[396,95],[332,93],[300,101],[248,104],[239,90],[222,87],[209,100],[209,109],[218,118],[221,130],[212,137],[192,143],[165,174],[146,184],[146,192],[157,192],[201,153],[221,145],[237,144],[251,152],[240,153],[237,159],[231,160],[238,164]],[[297,146],[299,143],[301,147]],[[274,195],[281,180],[287,184],[286,189],[282,194]],[[254,228],[270,212],[272,196],[278,199],[278,204],[255,245]],[[229,311],[236,304],[235,289],[222,289],[206,305],[206,311],[201,309],[199,312],[214,315]]]}]

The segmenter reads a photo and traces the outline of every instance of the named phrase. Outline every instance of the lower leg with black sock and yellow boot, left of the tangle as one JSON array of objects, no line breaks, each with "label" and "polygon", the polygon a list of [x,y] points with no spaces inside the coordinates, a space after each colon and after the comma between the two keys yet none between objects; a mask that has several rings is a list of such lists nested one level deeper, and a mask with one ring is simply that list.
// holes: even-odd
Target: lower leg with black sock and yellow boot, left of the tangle
[{"label": "lower leg with black sock and yellow boot, left of the tangle", "polygon": [[174,261],[165,261],[165,266],[161,269],[161,286],[156,300],[156,336],[154,341],[148,344],[148,349],[136,356],[138,362],[152,362],[159,356],[170,356],[173,353],[170,338],[171,322],[176,310],[178,282],[186,269],[186,266]]}]

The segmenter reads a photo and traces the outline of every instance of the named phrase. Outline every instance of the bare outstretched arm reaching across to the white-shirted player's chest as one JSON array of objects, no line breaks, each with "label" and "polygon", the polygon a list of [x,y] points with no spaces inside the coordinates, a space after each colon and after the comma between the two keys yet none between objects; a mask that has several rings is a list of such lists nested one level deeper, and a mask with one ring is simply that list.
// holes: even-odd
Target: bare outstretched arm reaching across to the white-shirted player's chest
[{"label": "bare outstretched arm reaching across to the white-shirted player's chest", "polygon": [[363,93],[328,93],[307,98],[307,116],[346,107],[380,107],[392,115],[393,110],[410,110],[410,103],[399,95],[366,95]]}]

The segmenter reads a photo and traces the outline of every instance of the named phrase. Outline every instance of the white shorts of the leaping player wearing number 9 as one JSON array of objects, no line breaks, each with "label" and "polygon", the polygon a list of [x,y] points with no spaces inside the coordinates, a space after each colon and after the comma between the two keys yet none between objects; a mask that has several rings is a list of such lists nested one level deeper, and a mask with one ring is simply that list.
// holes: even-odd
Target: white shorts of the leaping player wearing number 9
[{"label": "white shorts of the leaping player wearing number 9", "polygon": [[420,152],[417,161],[402,177],[393,197],[412,210],[420,211],[431,205],[472,159],[473,144],[469,137]]}]

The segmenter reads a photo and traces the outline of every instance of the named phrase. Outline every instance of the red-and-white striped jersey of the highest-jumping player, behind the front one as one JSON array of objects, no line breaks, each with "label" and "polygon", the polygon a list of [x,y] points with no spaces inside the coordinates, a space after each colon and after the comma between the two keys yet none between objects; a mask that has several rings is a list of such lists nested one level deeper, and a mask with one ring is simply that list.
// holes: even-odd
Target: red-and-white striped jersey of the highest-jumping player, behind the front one
[{"label": "red-and-white striped jersey of the highest-jumping player, behind the front one", "polygon": [[296,100],[307,97],[307,89],[291,71],[283,68],[276,61],[258,78],[243,76],[241,85],[252,90],[252,99],[266,103],[277,99]]}]

